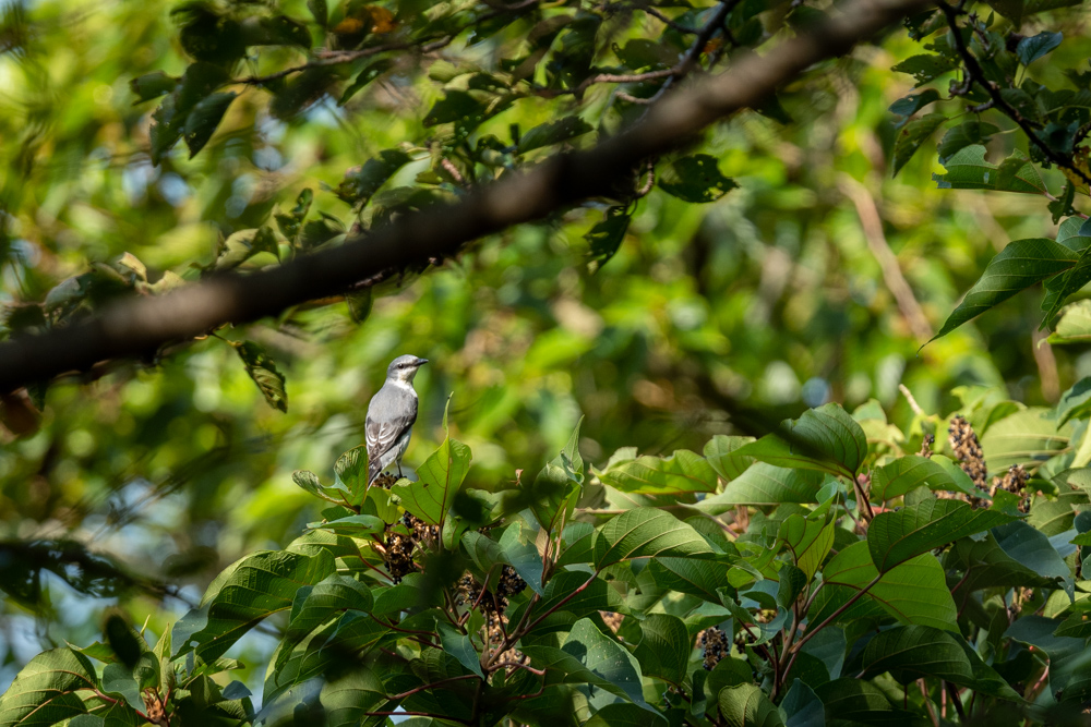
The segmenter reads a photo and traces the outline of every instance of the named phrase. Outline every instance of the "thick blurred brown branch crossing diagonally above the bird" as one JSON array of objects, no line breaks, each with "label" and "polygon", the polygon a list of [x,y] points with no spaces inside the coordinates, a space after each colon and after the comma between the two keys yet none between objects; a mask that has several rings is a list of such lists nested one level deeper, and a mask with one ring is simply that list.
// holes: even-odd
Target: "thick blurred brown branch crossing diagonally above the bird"
[{"label": "thick blurred brown branch crossing diagonally above the bird", "polygon": [[0,344],[0,391],[51,379],[95,363],[154,353],[225,324],[276,315],[344,291],[391,268],[452,256],[466,243],[609,194],[612,182],[648,157],[693,140],[715,121],[759,105],[807,66],[848,52],[925,0],[853,0],[815,33],[741,59],[719,76],[664,96],[633,129],[587,152],[560,155],[505,174],[463,201],[406,217],[345,244],[251,275],[214,275],[170,293],[130,299],[81,323]]}]

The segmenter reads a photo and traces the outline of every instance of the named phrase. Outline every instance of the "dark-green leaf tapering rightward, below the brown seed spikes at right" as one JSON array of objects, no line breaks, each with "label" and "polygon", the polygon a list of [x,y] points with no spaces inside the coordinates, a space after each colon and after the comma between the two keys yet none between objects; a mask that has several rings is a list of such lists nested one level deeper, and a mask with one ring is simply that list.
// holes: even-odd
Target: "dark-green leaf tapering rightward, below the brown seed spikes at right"
[{"label": "dark-green leaf tapering rightward, below the brown seed spikes at right", "polygon": [[910,558],[1014,519],[996,510],[974,509],[961,500],[928,498],[876,516],[867,528],[867,549],[882,573]]}]

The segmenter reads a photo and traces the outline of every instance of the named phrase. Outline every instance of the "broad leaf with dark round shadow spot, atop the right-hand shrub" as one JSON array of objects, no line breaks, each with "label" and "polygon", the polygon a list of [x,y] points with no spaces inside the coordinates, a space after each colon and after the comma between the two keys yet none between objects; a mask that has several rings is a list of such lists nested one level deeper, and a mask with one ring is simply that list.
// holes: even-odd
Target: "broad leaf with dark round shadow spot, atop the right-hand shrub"
[{"label": "broad leaf with dark round shadow spot, atop the right-hand shrub", "polygon": [[795,421],[786,420],[776,433],[735,453],[777,467],[820,470],[853,478],[867,456],[867,437],[848,412],[830,403],[805,411]]}]

